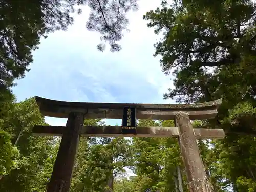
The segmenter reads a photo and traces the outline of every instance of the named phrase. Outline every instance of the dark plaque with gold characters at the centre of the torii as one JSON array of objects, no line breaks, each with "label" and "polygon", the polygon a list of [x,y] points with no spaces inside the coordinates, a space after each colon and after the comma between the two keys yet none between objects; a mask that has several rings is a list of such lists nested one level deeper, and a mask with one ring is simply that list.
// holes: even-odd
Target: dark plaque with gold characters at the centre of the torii
[{"label": "dark plaque with gold characters at the centre of the torii", "polygon": [[136,108],[123,108],[122,134],[136,134]]}]

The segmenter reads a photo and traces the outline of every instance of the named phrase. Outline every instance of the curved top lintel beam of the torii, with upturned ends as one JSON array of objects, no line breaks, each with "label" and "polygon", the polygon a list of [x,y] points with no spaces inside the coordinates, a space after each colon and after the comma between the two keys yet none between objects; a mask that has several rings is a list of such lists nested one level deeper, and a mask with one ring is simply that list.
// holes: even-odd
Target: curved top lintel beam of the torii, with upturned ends
[{"label": "curved top lintel beam of the torii, with upturned ends", "polygon": [[68,118],[70,112],[83,112],[88,119],[122,119],[125,106],[136,108],[137,119],[174,119],[180,112],[186,112],[190,120],[210,119],[217,115],[221,99],[196,104],[132,104],[132,103],[87,103],[50,100],[35,96],[42,115]]}]

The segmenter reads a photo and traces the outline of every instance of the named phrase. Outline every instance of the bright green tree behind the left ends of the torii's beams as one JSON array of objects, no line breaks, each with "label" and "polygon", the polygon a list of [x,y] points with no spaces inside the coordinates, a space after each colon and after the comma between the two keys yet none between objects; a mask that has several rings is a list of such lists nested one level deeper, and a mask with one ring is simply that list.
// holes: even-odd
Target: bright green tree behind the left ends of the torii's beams
[{"label": "bright green tree behind the left ends of the torii's beams", "polygon": [[31,191],[40,180],[37,173],[46,163],[53,139],[32,136],[34,125],[45,124],[34,98],[13,105],[9,116],[2,120],[1,129],[11,135],[10,141],[19,151],[19,156],[13,159],[15,166],[10,172],[1,177],[0,191]]}]

